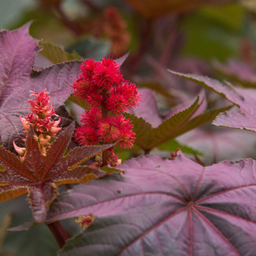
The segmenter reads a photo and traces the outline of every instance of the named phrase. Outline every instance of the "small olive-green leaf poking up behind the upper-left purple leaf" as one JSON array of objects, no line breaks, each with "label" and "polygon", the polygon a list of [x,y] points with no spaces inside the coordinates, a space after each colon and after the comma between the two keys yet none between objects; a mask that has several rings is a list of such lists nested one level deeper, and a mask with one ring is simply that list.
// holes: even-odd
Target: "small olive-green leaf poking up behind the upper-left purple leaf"
[{"label": "small olive-green leaf poking up behind the upper-left purple leaf", "polygon": [[39,45],[43,46],[43,50],[41,50],[40,54],[52,61],[53,64],[83,59],[75,50],[72,53],[65,52],[60,45],[53,44],[52,42],[41,41]]}]

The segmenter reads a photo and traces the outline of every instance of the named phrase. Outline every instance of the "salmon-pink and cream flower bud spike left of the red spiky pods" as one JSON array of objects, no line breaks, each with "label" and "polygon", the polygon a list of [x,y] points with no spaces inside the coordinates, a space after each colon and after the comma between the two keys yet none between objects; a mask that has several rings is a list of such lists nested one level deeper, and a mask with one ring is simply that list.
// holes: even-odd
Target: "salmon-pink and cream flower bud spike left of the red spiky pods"
[{"label": "salmon-pink and cream flower bud spike left of the red spiky pods", "polygon": [[[31,92],[31,95],[35,96],[35,100],[28,100],[30,102],[30,110],[32,112],[27,115],[26,119],[21,116],[19,118],[25,128],[25,133],[29,131],[30,125],[32,125],[35,132],[34,138],[38,141],[42,155],[46,155],[46,149],[50,145],[50,138],[56,135],[56,133],[62,128],[57,127],[60,123],[60,118],[57,121],[50,120],[52,116],[58,115],[55,114],[52,105],[49,105],[50,96],[47,96],[48,93],[46,92],[46,89],[41,93],[35,93],[34,91]],[[26,139],[22,140],[26,141]],[[20,159],[23,160],[26,155],[26,148],[18,147],[14,141],[13,145],[16,152],[20,155]]]}]

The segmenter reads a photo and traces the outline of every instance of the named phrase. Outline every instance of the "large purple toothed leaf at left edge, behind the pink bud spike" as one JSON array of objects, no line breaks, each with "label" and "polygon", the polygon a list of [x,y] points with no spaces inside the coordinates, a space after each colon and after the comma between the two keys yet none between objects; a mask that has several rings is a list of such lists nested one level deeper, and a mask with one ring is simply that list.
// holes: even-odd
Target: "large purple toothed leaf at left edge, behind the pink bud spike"
[{"label": "large purple toothed leaf at left edge, behind the pink bud spike", "polygon": [[[31,23],[31,22],[30,22]],[[31,92],[46,88],[56,109],[71,94],[71,84],[78,74],[79,62],[53,65],[33,71],[38,40],[29,35],[30,23],[13,31],[0,32],[0,140],[3,147],[14,152],[12,140],[24,146],[23,126],[19,116],[30,112],[27,99]]]}]

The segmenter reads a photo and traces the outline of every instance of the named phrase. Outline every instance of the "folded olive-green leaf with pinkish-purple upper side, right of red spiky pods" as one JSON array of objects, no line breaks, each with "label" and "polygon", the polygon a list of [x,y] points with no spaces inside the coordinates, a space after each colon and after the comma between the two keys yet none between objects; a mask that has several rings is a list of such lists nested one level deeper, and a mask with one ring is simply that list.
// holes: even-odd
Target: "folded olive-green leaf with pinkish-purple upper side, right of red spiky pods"
[{"label": "folded olive-green leaf with pinkish-purple upper side, right of red spiky pods", "polygon": [[168,118],[162,121],[152,91],[140,89],[139,93],[144,95],[140,107],[132,109],[130,113],[125,113],[125,116],[129,117],[134,125],[135,144],[145,151],[150,151],[182,133],[212,121],[217,114],[230,108],[213,109],[202,113],[205,109],[205,106],[202,108],[205,99],[202,99],[201,94],[201,97],[197,97],[195,101],[181,105],[179,108],[176,107],[173,114],[167,114]]}]

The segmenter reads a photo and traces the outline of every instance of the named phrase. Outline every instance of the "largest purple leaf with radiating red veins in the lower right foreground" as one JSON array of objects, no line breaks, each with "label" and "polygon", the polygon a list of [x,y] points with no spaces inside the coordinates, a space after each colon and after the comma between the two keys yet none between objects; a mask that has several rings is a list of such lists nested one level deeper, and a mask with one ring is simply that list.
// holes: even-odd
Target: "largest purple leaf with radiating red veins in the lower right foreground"
[{"label": "largest purple leaf with radiating red veins in the lower right foreground", "polygon": [[75,186],[53,202],[47,221],[96,215],[60,255],[254,255],[254,160],[203,167],[179,151],[118,169],[124,175]]}]

